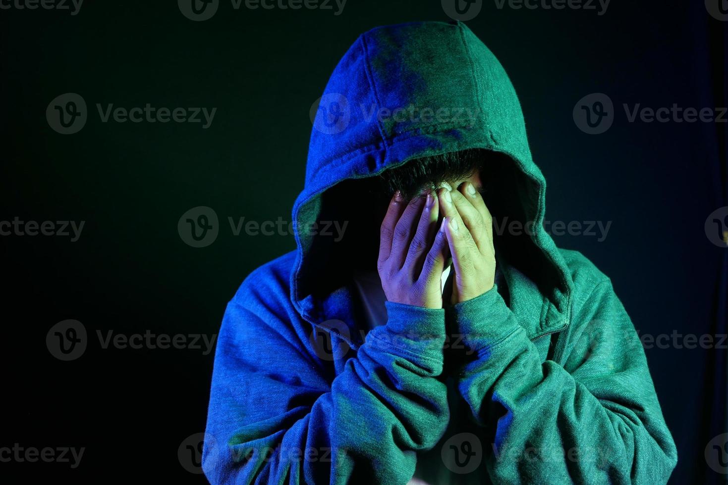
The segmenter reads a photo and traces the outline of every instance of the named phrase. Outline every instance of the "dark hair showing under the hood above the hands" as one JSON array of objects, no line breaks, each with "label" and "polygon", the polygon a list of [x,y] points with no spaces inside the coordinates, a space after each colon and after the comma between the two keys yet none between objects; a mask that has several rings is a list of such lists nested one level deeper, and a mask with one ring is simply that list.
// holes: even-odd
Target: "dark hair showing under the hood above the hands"
[{"label": "dark hair showing under the hood above the hands", "polygon": [[400,167],[385,170],[379,178],[390,197],[400,191],[408,201],[443,182],[454,185],[456,181],[470,177],[480,168],[481,161],[479,151],[448,152],[406,161]]}]

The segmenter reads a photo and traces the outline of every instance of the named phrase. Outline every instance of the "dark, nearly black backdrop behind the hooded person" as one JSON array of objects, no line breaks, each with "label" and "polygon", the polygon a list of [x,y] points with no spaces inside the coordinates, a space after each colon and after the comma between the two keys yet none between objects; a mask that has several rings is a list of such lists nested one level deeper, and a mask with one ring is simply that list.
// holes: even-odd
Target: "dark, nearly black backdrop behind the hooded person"
[{"label": "dark, nearly black backdrop behind the hooded person", "polygon": [[[706,236],[726,200],[726,124],[629,123],[622,103],[727,105],[727,22],[702,1],[613,0],[583,9],[498,9],[467,25],[519,93],[531,149],[548,180],[548,220],[612,221],[605,241],[555,236],[612,278],[641,334],[725,334],[728,249]],[[24,483],[202,482],[178,446],[205,429],[213,353],[103,349],[96,331],[218,332],[226,302],[293,236],[234,236],[227,217],[290,220],[303,186],[309,109],[363,31],[449,20],[440,1],[349,0],[332,10],[251,10],[221,1],[193,22],[174,1],[103,1],[68,10],[1,9],[0,220],[85,221],[79,241],[0,236],[4,318],[0,446],[85,447],[68,463],[0,463]],[[74,135],[47,122],[76,92],[89,119]],[[593,92],[615,105],[611,129],[580,131],[572,109]],[[102,123],[95,104],[218,108],[190,123]],[[188,209],[212,207],[217,240],[185,244]],[[722,285],[722,286],[721,286]],[[46,347],[81,321],[85,353]],[[271,349],[274,351],[274,349]],[[726,432],[726,350],[646,350],[678,446],[671,483],[718,483],[705,445]],[[0,478],[1,479],[1,478]]]}]

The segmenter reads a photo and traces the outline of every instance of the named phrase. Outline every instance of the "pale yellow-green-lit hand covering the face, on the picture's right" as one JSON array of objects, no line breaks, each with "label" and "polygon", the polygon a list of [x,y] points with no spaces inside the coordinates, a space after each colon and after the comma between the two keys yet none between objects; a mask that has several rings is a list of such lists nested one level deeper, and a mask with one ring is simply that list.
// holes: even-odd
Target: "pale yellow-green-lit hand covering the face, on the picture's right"
[{"label": "pale yellow-green-lit hand covering the face, on the picture's right", "polygon": [[447,218],[445,232],[455,270],[451,303],[455,305],[494,286],[493,217],[470,182],[455,191],[440,188],[438,199],[440,212]]}]

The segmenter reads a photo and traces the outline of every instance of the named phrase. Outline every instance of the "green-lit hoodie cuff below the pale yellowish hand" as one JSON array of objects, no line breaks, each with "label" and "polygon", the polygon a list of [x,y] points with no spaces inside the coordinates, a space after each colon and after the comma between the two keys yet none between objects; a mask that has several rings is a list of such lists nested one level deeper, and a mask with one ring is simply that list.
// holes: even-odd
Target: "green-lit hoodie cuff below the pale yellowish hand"
[{"label": "green-lit hoodie cuff below the pale yellowish hand", "polygon": [[448,316],[470,350],[492,347],[521,328],[497,284],[479,297],[448,307]]}]

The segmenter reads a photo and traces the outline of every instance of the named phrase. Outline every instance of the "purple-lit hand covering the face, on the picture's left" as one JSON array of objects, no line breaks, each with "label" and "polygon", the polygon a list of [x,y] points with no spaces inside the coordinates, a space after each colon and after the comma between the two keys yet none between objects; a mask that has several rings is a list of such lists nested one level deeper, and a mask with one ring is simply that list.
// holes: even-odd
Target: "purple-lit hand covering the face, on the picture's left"
[{"label": "purple-lit hand covering the face, on the picture's left", "polygon": [[405,204],[392,197],[381,223],[377,270],[387,300],[442,308],[441,278],[449,254],[444,224],[438,230],[438,197],[415,197]]}]

